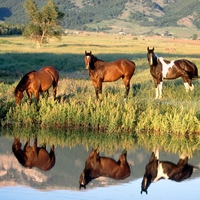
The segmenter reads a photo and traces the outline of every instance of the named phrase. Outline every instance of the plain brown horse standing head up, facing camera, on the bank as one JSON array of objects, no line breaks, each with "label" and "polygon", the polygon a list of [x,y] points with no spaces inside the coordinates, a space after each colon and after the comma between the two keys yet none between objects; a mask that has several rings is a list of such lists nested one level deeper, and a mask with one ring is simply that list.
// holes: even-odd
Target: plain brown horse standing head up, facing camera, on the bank
[{"label": "plain brown horse standing head up, facing camera, on the bank", "polygon": [[92,55],[92,52],[86,52],[84,56],[86,69],[89,69],[89,76],[95,88],[96,98],[102,94],[102,83],[113,82],[122,78],[125,85],[125,98],[130,90],[130,80],[135,72],[135,63],[126,60],[116,60],[113,62],[104,62]]}]

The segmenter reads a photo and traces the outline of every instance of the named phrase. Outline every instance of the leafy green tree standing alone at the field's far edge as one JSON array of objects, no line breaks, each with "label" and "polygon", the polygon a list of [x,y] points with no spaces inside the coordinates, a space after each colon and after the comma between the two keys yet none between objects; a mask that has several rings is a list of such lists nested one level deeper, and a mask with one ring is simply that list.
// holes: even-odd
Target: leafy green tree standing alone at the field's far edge
[{"label": "leafy green tree standing alone at the field's far edge", "polygon": [[51,37],[61,38],[62,28],[59,22],[64,14],[52,0],[48,1],[41,11],[38,10],[34,0],[27,0],[24,9],[30,20],[23,31],[25,37],[36,41],[39,45],[47,43]]}]

